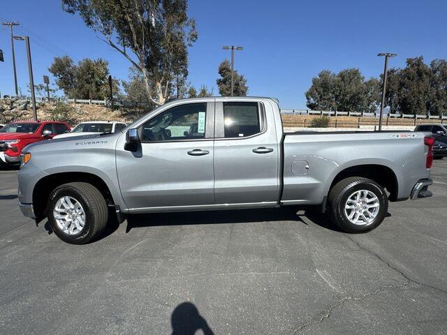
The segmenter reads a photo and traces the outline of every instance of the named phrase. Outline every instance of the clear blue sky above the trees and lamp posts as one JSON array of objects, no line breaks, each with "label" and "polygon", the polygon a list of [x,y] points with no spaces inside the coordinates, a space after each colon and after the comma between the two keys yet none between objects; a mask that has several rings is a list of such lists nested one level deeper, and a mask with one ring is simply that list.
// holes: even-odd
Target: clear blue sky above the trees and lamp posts
[{"label": "clear blue sky above the trees and lamp posts", "polygon": [[[65,13],[60,0],[3,0],[0,20],[20,22],[16,35],[29,35],[34,83],[50,75],[56,56],[78,61],[102,58],[112,76],[126,80],[129,62],[87,28],[78,15]],[[7,4],[6,4],[7,3]],[[217,68],[230,57],[223,45],[237,45],[235,69],[242,73],[250,96],[279,98],[282,108],[306,107],[305,92],[323,69],[359,68],[365,77],[383,72],[378,52],[395,52],[391,67],[404,67],[409,57],[447,59],[447,1],[248,1],[189,0],[198,40],[189,49],[189,81],[219,95]],[[0,26],[0,93],[14,94],[10,31]],[[17,77],[22,92],[29,83],[22,41],[15,41]],[[54,82],[50,76],[50,81]]]}]

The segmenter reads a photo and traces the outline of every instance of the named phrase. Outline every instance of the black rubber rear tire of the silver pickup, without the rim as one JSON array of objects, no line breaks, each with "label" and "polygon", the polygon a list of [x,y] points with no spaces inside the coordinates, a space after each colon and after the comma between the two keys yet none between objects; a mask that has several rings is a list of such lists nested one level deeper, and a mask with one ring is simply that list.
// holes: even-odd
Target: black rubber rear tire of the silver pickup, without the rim
[{"label": "black rubber rear tire of the silver pickup, without the rim", "polygon": [[[371,223],[357,225],[349,221],[344,209],[349,197],[356,191],[366,190],[374,193],[379,200],[379,210]],[[371,179],[363,177],[349,177],[339,181],[330,190],[328,196],[328,214],[333,223],[343,232],[358,234],[369,232],[379,227],[388,213],[388,195],[385,190]]]}]

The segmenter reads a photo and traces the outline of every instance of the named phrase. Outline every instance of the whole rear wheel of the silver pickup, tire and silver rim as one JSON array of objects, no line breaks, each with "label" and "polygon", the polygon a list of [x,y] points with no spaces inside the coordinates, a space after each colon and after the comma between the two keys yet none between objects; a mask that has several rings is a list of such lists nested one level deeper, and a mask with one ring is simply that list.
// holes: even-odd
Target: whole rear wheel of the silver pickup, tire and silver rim
[{"label": "whole rear wheel of the silver pickup, tire and silver rim", "polygon": [[388,213],[385,190],[371,179],[350,177],[339,181],[329,193],[329,216],[337,227],[349,233],[377,228]]}]

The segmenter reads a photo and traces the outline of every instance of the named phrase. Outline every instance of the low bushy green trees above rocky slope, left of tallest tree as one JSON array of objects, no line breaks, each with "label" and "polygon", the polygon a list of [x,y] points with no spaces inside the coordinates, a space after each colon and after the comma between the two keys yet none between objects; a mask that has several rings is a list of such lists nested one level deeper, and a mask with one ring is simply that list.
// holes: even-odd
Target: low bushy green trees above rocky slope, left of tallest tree
[{"label": "low bushy green trees above rocky slope, left of tallest tree", "polygon": [[[56,78],[59,89],[68,98],[105,99],[110,96],[108,62],[103,59],[82,59],[78,64],[68,57],[55,57],[50,73]],[[119,94],[119,82],[112,81],[114,95]]]}]

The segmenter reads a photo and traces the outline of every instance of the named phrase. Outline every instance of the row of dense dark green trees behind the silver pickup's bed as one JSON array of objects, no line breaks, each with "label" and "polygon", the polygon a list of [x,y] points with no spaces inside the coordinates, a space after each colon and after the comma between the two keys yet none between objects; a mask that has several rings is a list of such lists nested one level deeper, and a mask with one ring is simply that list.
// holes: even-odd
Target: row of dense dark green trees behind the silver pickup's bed
[{"label": "row of dense dark green trees behind the silver pickup's bed", "polygon": [[[388,70],[385,105],[391,113],[447,113],[447,60],[435,59],[430,66],[423,57],[406,59],[405,68]],[[373,112],[381,103],[383,75],[365,81],[356,68],[318,73],[306,92],[307,107],[314,110]]]}]

